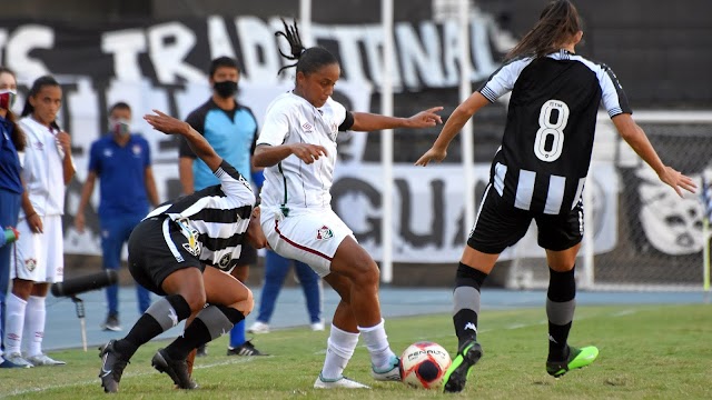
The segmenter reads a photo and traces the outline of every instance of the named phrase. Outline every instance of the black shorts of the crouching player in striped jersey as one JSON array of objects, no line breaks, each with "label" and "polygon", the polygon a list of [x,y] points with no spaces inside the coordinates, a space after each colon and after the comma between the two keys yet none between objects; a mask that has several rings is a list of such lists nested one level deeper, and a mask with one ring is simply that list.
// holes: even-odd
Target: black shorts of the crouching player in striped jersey
[{"label": "black shorts of the crouching player in striped jersey", "polygon": [[151,217],[136,226],[128,243],[129,271],[136,282],[166,296],[161,284],[169,274],[191,267],[202,272],[205,264],[184,249],[184,243],[188,243],[188,239],[166,217]]}]

